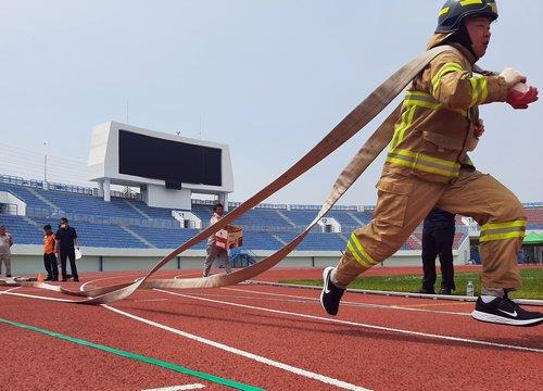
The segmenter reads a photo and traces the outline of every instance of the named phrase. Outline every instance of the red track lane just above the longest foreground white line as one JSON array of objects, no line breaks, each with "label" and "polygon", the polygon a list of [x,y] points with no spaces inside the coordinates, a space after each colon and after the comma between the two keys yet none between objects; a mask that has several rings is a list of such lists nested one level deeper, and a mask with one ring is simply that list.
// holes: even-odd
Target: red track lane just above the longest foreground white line
[{"label": "red track lane just above the longest foreground white line", "polygon": [[[260,340],[260,344],[255,345],[258,352],[262,352],[260,354],[273,352],[274,358],[289,357],[291,362],[302,362],[311,368],[326,370],[328,376],[341,377],[355,383],[362,382],[371,389],[418,389],[420,384],[456,388],[458,383],[459,387],[467,388],[472,388],[473,384],[480,388],[492,388],[496,384],[501,384],[497,388],[510,388],[510,381],[516,381],[515,374],[518,375],[519,371],[526,383],[536,384],[538,381],[536,373],[523,367],[520,362],[538,362],[539,353],[472,346],[466,345],[465,342],[434,341],[419,336],[397,336],[384,330],[364,330],[349,325],[285,318],[280,314],[255,314],[249,308],[225,308],[224,303],[191,303],[191,298],[180,297],[178,300],[181,307],[192,308],[199,305],[202,307],[200,311],[213,314],[207,318],[202,314],[195,317],[200,317],[204,323],[213,318],[223,331],[232,329],[233,326],[229,325],[232,317],[240,319],[238,324],[247,326],[243,327],[243,339],[233,331],[217,333],[215,329],[205,330],[206,338],[229,344],[243,343],[243,340]],[[175,307],[176,301],[168,304]],[[168,310],[167,314],[164,314],[163,311],[156,311],[153,319],[175,327],[174,312],[175,310]],[[141,313],[144,314],[144,311]],[[251,325],[253,327],[250,327]],[[268,341],[267,338],[272,340]],[[424,362],[420,360],[422,356],[427,357]],[[455,365],[443,367],[441,363],[444,356]],[[333,357],[334,365],[330,367],[330,362],[324,361],[323,357]],[[504,362],[508,363],[510,371],[504,373],[500,369],[503,368]],[[406,363],[409,363],[409,370]],[[489,363],[491,368],[487,368],[487,365],[482,368],[478,363]],[[437,378],[435,371],[442,376]],[[458,380],[460,373],[470,375]],[[392,378],[401,379],[403,386],[395,388],[397,384],[391,381]]]}]

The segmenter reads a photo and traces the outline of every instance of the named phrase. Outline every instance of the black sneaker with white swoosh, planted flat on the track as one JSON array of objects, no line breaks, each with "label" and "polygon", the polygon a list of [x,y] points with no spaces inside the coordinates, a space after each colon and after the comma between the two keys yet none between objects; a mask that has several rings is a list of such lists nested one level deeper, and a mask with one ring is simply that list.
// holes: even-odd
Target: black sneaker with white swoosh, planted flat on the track
[{"label": "black sneaker with white swoosh, planted flat on the track", "polygon": [[493,299],[490,303],[484,303],[479,297],[471,317],[509,326],[535,326],[543,321],[542,313],[522,310],[507,297],[507,293],[503,298]]}]

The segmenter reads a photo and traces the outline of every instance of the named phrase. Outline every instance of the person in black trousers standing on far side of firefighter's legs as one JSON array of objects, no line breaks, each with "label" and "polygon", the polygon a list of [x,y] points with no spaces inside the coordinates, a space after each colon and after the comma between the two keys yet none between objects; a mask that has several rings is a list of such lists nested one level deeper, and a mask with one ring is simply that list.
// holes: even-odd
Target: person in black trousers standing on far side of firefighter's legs
[{"label": "person in black trousers standing on far side of firefighter's legs", "polygon": [[433,294],[435,283],[435,255],[440,256],[441,291],[452,294],[454,285],[453,241],[454,214],[434,207],[425,218],[422,226],[422,289],[419,293]]}]

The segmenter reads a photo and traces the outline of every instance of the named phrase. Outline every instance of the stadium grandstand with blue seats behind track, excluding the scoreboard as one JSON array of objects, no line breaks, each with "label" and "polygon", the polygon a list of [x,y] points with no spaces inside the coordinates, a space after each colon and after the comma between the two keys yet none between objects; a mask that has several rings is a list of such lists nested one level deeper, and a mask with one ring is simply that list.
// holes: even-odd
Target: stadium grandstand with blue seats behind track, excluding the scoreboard
[{"label": "stadium grandstand with blue seats behind track, excluding the scoreboard", "polygon": [[[90,257],[109,255],[110,258],[121,260],[123,255],[136,255],[151,256],[155,260],[206,228],[213,203],[214,201],[210,200],[192,200],[190,210],[152,207],[141,201],[140,194],[123,192],[112,192],[111,200],[106,202],[99,197],[97,188],[0,175],[0,224],[5,225],[15,238],[16,247],[13,251],[15,260],[20,255],[27,260],[35,257],[35,262],[38,262],[37,255],[40,254],[42,241],[41,227],[45,224],[56,224],[62,216],[66,216],[77,228],[85,252]],[[229,203],[230,210],[237,205],[235,202]],[[265,256],[292,240],[315,217],[318,209],[317,205],[262,204],[235,224],[243,228],[247,248],[258,256]],[[543,204],[525,204],[525,209],[528,215],[528,230],[536,232],[543,230]],[[173,212],[181,214],[191,212],[201,219],[202,226],[199,229],[185,227],[185,223],[176,219]],[[331,257],[340,256],[350,232],[367,224],[370,218],[369,206],[336,206],[325,216],[325,224],[316,226],[293,252],[292,258],[299,258],[299,262],[292,263],[287,260],[287,265],[300,265],[300,257],[306,260],[304,263],[306,265],[311,262],[307,261],[308,257],[313,258],[311,265],[321,265]],[[457,218],[457,224],[454,240],[456,262],[466,263],[468,260],[460,252],[469,245],[468,234],[472,241],[477,241],[478,230],[477,228],[471,230],[462,223],[460,217]],[[463,243],[466,244],[464,248]],[[197,244],[194,250],[200,251],[195,251],[192,256],[203,258],[204,248],[204,242]],[[130,249],[148,250],[148,253],[123,252]],[[420,250],[419,227],[391,261],[402,264],[419,263],[417,258]],[[472,260],[478,260],[473,256],[473,252],[470,256]],[[190,264],[199,262],[193,260]],[[97,262],[91,264],[96,266]],[[89,269],[96,269],[92,265],[89,265]],[[118,267],[129,266],[125,260]],[[21,268],[28,269],[23,265]],[[117,267],[110,261],[108,268]]]}]

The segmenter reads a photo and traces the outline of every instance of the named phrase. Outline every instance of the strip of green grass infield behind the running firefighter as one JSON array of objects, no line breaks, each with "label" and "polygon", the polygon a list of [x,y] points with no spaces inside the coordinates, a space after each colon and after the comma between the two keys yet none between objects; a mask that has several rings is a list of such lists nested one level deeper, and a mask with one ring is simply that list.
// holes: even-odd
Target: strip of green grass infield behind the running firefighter
[{"label": "strip of green grass infield behind the running firefighter", "polygon": [[[543,268],[521,269],[522,288],[512,292],[510,298],[522,299],[543,299]],[[466,285],[471,280],[475,286],[475,294],[479,295],[481,290],[479,273],[457,273],[454,281],[456,291],[454,294],[466,294]],[[403,275],[403,276],[370,276],[356,278],[349,288],[353,289],[371,289],[395,292],[416,292],[420,289],[421,276],[419,275]],[[310,280],[283,280],[285,283],[323,286],[323,279]],[[441,287],[441,277],[438,276],[435,282],[435,291],[439,292]]]}]

